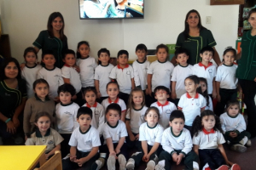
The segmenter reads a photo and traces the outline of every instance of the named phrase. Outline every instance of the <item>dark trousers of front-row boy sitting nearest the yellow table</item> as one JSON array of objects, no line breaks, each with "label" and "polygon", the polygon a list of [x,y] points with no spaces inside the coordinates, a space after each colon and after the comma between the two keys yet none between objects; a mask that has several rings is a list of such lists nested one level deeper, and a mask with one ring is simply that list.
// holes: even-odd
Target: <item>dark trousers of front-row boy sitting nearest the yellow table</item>
[{"label": "dark trousers of front-row boy sitting nearest the yellow table", "polygon": [[[81,152],[79,150],[77,150],[77,159],[86,157],[90,154],[90,152]],[[82,170],[96,170],[97,168],[97,164],[96,164],[96,160],[99,158],[99,153],[96,153],[95,156],[93,156],[92,158],[90,158],[89,161],[86,161],[82,167],[79,167],[79,164],[73,161],[70,161],[70,159],[67,160],[62,160],[62,169],[63,170],[70,170],[70,169],[82,169]]]}]

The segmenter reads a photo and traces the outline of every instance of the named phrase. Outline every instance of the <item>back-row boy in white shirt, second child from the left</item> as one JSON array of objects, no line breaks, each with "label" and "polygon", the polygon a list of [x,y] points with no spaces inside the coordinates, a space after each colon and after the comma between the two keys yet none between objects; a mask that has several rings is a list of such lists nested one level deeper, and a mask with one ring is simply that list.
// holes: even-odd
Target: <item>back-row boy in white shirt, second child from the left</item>
[{"label": "back-row boy in white shirt, second child from the left", "polygon": [[44,78],[49,83],[49,98],[58,99],[58,88],[63,82],[61,77],[61,69],[55,67],[55,56],[53,51],[48,50],[42,54],[42,61],[44,62],[44,67],[38,71],[38,77]]}]

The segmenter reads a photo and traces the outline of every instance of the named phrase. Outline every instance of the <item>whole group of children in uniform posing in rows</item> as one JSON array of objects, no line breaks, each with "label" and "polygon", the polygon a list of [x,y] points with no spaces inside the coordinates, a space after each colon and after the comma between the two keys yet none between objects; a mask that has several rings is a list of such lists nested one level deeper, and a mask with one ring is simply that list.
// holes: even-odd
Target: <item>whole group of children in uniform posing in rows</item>
[{"label": "whole group of children in uniform posing in rows", "polygon": [[[89,43],[79,42],[77,59],[67,50],[59,69],[50,51],[42,54],[42,67],[34,49],[26,48],[26,144],[46,144],[46,159],[61,149],[67,156],[63,169],[99,169],[105,160],[110,170],[116,160],[120,170],[134,169],[141,161],[148,162],[148,170],[170,169],[172,162],[199,169],[199,160],[204,169],[240,168],[228,160],[222,145],[243,152],[251,144],[239,103],[232,100],[237,86],[234,48],[225,49],[218,70],[210,62],[210,47],[201,49],[196,65],[187,63],[185,49],[177,49],[176,67],[167,61],[164,44],[157,46],[151,64],[144,44],[137,46],[132,66],[126,50],[119,51],[116,66],[109,64],[106,48],[98,52],[101,65],[89,53]],[[218,99],[220,119],[212,112],[212,97]],[[132,148],[137,152],[129,158]]]}]

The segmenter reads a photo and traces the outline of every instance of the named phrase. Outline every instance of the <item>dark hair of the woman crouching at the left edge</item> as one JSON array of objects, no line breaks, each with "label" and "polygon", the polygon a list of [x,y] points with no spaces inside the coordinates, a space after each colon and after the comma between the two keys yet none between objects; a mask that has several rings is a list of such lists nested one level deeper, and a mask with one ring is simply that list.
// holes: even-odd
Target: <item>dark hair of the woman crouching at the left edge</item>
[{"label": "dark hair of the woman crouching at the left edge", "polygon": [[9,65],[9,63],[11,63],[11,62],[14,62],[15,63],[15,65],[16,65],[16,67],[17,67],[17,69],[18,69],[18,75],[17,75],[17,79],[20,79],[21,78],[21,71],[20,71],[20,64],[19,64],[19,62],[17,61],[17,59],[15,59],[15,58],[5,58],[5,59],[3,59],[3,62],[1,63],[1,66],[0,66],[0,81],[3,81],[3,80],[5,80],[5,79],[8,79],[8,77],[6,77],[6,75],[5,75],[5,67],[7,66],[7,65]]}]

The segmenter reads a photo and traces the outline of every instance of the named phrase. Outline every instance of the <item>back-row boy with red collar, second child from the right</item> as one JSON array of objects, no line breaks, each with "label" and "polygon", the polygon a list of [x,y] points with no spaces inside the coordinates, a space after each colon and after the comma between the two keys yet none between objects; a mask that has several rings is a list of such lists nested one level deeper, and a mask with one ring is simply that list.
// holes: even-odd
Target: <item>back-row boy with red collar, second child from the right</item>
[{"label": "back-row boy with red collar, second child from the right", "polygon": [[214,50],[212,47],[207,46],[205,48],[201,48],[201,62],[193,66],[193,75],[207,79],[208,94],[211,96],[211,98],[215,99],[217,96],[215,83],[216,66],[212,65],[212,62],[210,62],[213,55]]}]

